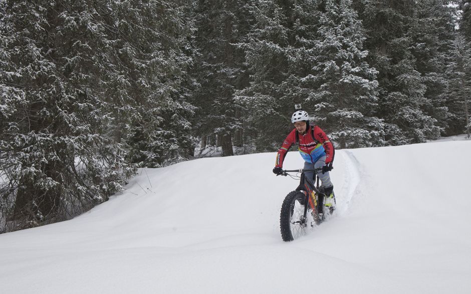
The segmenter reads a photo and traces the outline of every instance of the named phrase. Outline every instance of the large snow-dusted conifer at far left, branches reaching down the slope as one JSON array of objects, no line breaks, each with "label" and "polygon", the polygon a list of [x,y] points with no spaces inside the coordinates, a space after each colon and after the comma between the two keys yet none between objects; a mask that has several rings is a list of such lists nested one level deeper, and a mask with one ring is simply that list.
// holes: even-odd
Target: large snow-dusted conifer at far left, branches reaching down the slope
[{"label": "large snow-dusted conifer at far left, branches reaching down the slope", "polygon": [[[67,218],[122,189],[134,167],[106,135],[120,78],[111,29],[88,1],[2,1],[0,170],[8,229]],[[6,228],[4,228],[7,230]]]}]

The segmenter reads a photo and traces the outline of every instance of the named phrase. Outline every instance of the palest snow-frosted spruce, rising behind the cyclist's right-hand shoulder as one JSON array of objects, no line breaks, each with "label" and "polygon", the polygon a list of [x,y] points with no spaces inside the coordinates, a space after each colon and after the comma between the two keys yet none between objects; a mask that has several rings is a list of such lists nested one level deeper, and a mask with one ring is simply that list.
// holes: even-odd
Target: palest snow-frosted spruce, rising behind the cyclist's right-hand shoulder
[{"label": "palest snow-frosted spruce, rising behind the cyclist's right-hand shoulder", "polygon": [[383,124],[373,116],[377,71],[366,62],[363,27],[351,5],[351,0],[325,1],[309,77],[319,88],[307,100],[316,103],[316,118],[324,121],[341,148],[381,146]]}]

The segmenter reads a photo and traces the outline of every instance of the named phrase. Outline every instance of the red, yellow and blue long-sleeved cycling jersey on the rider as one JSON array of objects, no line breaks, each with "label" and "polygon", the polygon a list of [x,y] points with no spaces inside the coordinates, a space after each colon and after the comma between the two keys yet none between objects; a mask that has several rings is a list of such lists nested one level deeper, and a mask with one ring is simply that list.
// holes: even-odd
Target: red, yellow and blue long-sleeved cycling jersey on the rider
[{"label": "red, yellow and blue long-sleeved cycling jersey on the rider", "polygon": [[[314,127],[314,137],[312,136],[312,127]],[[296,144],[296,132],[296,128],[293,129],[286,137],[281,148],[278,150],[275,163],[276,166],[283,167],[286,153],[293,144]],[[298,150],[306,162],[315,163],[324,155],[326,155],[326,164],[332,162],[334,159],[334,145],[322,128],[317,125],[310,125],[305,134],[299,134],[298,145]]]}]

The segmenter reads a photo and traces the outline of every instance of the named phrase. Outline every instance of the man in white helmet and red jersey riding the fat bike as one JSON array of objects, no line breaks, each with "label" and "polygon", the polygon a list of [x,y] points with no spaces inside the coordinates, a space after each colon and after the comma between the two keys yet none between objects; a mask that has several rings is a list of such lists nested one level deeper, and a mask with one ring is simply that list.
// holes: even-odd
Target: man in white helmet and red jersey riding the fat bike
[{"label": "man in white helmet and red jersey riding the fat bike", "polygon": [[[309,123],[309,115],[304,110],[296,110],[291,116],[293,129],[286,137],[283,145],[278,150],[276,165],[273,168],[275,174],[280,174],[286,153],[293,144],[298,145],[298,150],[305,160],[304,168],[314,169],[322,166],[322,170],[317,173],[321,179],[319,190],[324,193],[324,206],[329,207],[330,212],[335,209],[334,205],[334,185],[330,180],[329,171],[332,170],[334,161],[334,145],[329,140],[326,133],[314,123]],[[306,178],[314,184],[314,172],[306,172]]]}]

